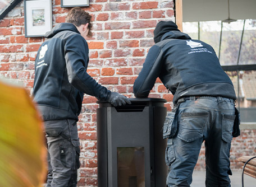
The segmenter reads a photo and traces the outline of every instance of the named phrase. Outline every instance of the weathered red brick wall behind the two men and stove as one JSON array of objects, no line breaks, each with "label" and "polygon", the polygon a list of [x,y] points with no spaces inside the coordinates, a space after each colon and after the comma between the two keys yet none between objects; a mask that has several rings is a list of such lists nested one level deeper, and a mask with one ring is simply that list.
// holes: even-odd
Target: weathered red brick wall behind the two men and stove
[{"label": "weathered red brick wall behind the two men and stove", "polygon": [[[60,0],[52,2],[53,25],[65,21],[68,8]],[[148,49],[154,44],[153,30],[160,20],[174,21],[173,1],[170,0],[91,0],[84,8],[93,16],[93,38],[88,39],[90,63],[88,72],[99,83],[128,97],[138,76]],[[25,38],[24,4],[16,6],[0,21],[0,73],[20,80],[31,93],[34,60],[44,38]],[[159,79],[150,97],[164,98],[171,110],[172,98]],[[81,140],[80,186],[97,186],[97,100],[85,95],[79,116]],[[255,130],[244,130],[235,138],[231,149],[231,166],[238,168],[236,158],[255,155]],[[254,145],[254,147],[253,147]],[[204,147],[197,170],[204,168]]]}]

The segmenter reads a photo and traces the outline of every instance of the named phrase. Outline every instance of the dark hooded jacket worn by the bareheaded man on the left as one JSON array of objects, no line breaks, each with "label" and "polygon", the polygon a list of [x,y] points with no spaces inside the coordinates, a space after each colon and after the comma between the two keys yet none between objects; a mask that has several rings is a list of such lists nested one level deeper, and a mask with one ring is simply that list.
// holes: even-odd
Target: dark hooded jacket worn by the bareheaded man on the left
[{"label": "dark hooded jacket worn by the bareheaded man on the left", "polygon": [[59,24],[45,38],[35,59],[34,101],[44,120],[78,120],[84,93],[105,101],[110,91],[86,72],[89,48],[75,25]]}]

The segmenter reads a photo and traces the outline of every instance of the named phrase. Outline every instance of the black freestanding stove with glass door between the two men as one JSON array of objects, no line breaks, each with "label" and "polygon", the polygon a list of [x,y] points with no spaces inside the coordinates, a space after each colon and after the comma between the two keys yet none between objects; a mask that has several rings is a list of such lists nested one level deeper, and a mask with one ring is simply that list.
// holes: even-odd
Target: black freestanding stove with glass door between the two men
[{"label": "black freestanding stove with glass door between the two men", "polygon": [[130,99],[97,109],[98,187],[164,187],[164,99]]}]

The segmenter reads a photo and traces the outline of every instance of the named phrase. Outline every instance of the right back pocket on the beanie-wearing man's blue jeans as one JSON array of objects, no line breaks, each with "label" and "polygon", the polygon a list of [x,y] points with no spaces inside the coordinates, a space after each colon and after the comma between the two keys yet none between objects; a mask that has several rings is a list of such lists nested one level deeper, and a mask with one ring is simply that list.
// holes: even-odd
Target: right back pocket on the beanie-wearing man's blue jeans
[{"label": "right back pocket on the beanie-wearing man's blue jeans", "polygon": [[236,116],[235,115],[225,115],[222,114],[222,134],[221,137],[223,141],[229,143],[232,141],[233,135],[233,125],[234,120]]}]

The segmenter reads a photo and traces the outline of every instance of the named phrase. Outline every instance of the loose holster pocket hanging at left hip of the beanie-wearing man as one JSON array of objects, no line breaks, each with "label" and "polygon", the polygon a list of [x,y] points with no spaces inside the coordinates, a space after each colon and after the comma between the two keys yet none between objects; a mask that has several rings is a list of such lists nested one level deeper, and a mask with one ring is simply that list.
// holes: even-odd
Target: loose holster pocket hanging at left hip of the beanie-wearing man
[{"label": "loose holster pocket hanging at left hip of the beanie-wearing man", "polygon": [[177,131],[177,110],[167,113],[163,124],[163,138],[172,138]]}]

